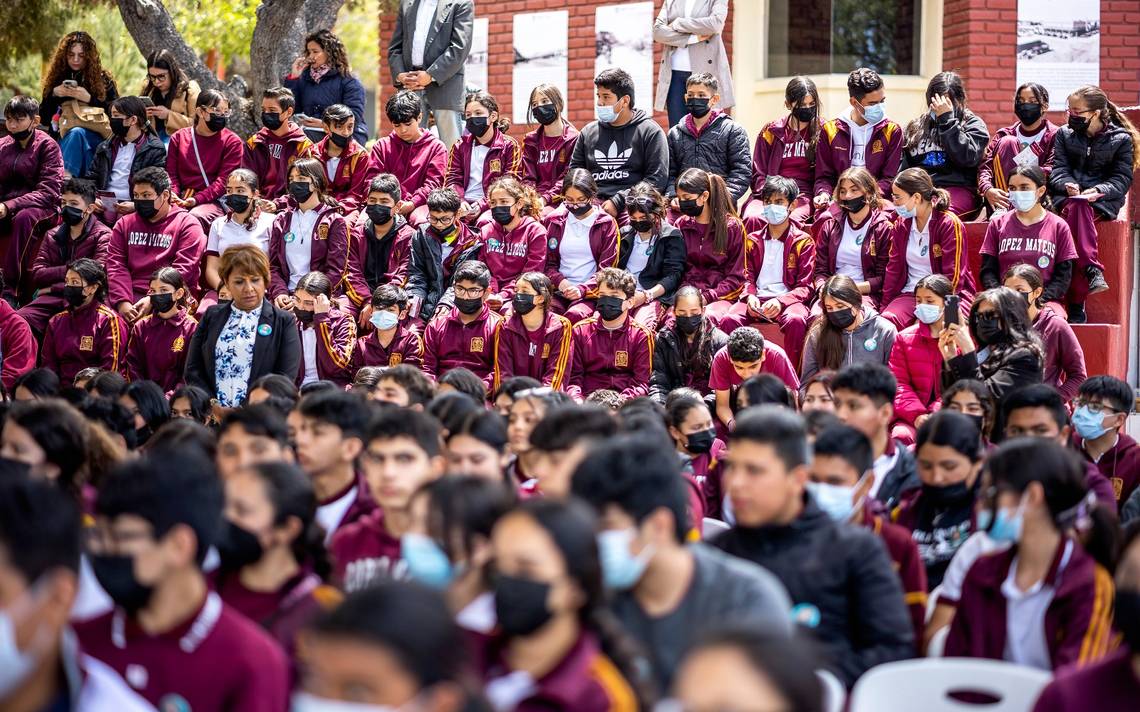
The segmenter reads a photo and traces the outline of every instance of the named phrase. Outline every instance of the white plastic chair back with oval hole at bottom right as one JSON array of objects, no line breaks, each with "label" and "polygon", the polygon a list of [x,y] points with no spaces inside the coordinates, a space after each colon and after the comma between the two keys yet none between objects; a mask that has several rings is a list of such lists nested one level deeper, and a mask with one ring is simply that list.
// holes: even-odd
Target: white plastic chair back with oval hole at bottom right
[{"label": "white plastic chair back with oval hole at bottom right", "polygon": [[[850,712],[1028,712],[1052,676],[1002,661],[971,657],[907,660],[872,668],[850,695]],[[983,693],[971,704],[950,693]]]}]

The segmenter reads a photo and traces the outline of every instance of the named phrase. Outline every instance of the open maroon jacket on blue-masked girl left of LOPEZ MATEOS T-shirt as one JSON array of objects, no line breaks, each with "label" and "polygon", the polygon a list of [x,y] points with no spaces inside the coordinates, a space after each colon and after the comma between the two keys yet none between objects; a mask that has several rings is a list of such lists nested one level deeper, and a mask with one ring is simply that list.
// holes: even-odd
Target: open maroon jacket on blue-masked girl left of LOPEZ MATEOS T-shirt
[{"label": "open maroon jacket on blue-masked girl left of LOPEZ MATEOS T-shirt", "polygon": [[[882,303],[903,293],[906,286],[906,244],[911,239],[914,218],[899,220],[890,235],[890,254],[887,259],[887,275],[882,280]],[[974,298],[974,275],[970,272],[969,255],[966,253],[966,228],[958,215],[948,211],[930,212],[930,271],[950,280],[951,294],[959,294],[962,301]]]}]

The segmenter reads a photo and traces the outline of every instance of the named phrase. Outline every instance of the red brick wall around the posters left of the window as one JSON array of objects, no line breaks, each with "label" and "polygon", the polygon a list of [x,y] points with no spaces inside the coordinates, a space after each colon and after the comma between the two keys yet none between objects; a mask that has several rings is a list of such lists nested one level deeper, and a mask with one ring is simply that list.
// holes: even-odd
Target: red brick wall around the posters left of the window
[{"label": "red brick wall around the posters left of the window", "polygon": [[[654,0],[656,11],[661,8],[663,0]],[[747,0],[751,1],[751,0]],[[516,13],[540,13],[544,10],[567,10],[569,13],[569,72],[567,77],[568,116],[576,126],[583,126],[594,118],[594,10],[598,6],[614,5],[617,0],[579,0],[578,2],[567,2],[565,0],[505,0],[502,2],[488,2],[479,0],[475,2],[475,17],[486,17],[488,23],[488,90],[499,103],[504,115],[510,117],[512,106],[512,72],[514,66],[514,52],[512,50],[512,32],[514,28],[513,16]],[[391,74],[388,71],[388,42],[396,27],[394,15],[381,15],[380,17],[380,89],[376,97],[380,106],[383,106],[388,97],[394,91],[392,89]],[[730,3],[728,21],[724,28],[724,41],[732,57],[732,9]],[[653,77],[657,79],[658,63],[661,60],[661,47],[654,44],[653,48]],[[656,88],[654,88],[656,90]],[[637,99],[638,108],[651,108],[649,98]],[[658,115],[658,121],[662,126],[667,126],[665,113]],[[531,128],[526,124],[513,126],[511,133],[521,138]],[[380,124],[380,133],[384,134],[391,130],[388,120]]]}]

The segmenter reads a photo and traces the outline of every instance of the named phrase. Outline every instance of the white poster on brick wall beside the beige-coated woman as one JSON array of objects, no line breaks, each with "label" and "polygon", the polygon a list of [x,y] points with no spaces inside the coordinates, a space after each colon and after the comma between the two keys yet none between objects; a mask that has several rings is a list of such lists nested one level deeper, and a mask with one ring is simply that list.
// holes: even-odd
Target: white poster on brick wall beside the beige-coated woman
[{"label": "white poster on brick wall beside the beige-coated woman", "polygon": [[653,108],[653,3],[603,5],[594,16],[594,75],[621,67],[634,79],[634,106]]}]

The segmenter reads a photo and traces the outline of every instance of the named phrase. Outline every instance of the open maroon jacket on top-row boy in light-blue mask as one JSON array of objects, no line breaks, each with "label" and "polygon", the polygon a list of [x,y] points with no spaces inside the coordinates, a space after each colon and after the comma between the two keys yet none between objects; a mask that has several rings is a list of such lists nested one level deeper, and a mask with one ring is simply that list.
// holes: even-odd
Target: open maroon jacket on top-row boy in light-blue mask
[{"label": "open maroon jacket on top-row boy in light-blue mask", "polygon": [[[866,142],[864,166],[879,181],[883,197],[890,198],[890,183],[903,159],[903,130],[889,118],[874,124]],[[839,174],[852,165],[852,134],[847,122],[832,118],[823,124],[815,147],[815,195],[831,195],[839,182]]]}]

